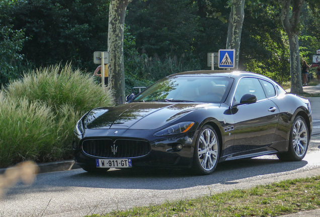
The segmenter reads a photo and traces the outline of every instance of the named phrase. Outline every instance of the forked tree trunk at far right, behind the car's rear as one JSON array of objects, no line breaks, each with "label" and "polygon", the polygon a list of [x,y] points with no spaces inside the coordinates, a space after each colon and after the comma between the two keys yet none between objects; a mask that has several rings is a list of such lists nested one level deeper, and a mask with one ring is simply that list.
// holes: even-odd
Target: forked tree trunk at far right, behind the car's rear
[{"label": "forked tree trunk at far right, behind the car's rear", "polygon": [[[291,92],[297,94],[303,92],[301,80],[300,51],[298,42],[298,24],[300,22],[300,12],[303,3],[304,0],[282,0],[281,10],[281,22],[289,38]],[[292,6],[291,17],[290,6]]]}]

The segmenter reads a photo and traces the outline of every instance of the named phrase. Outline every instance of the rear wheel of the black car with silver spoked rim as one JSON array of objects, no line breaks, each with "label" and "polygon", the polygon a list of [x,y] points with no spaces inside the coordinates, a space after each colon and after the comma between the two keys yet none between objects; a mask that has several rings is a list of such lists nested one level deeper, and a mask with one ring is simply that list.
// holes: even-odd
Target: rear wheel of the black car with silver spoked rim
[{"label": "rear wheel of the black car with silver spoked rim", "polygon": [[309,130],[304,119],[297,116],[292,124],[288,152],[277,154],[282,161],[301,161],[308,149]]}]

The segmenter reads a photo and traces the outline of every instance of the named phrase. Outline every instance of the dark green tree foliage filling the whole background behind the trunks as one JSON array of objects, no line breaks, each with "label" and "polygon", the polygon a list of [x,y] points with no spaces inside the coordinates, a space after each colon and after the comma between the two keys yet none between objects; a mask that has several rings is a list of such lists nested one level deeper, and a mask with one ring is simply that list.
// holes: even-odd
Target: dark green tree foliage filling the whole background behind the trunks
[{"label": "dark green tree foliage filling the whole background behind the trunks", "polygon": [[[263,1],[261,1],[263,2]],[[0,83],[22,71],[71,62],[92,73],[93,52],[107,50],[110,0],[4,0],[0,3]],[[246,1],[239,68],[279,83],[290,78],[289,45],[277,1]],[[133,0],[124,35],[126,92],[172,73],[203,70],[224,49],[230,8],[221,0]],[[301,61],[320,48],[319,20],[301,13]]]}]

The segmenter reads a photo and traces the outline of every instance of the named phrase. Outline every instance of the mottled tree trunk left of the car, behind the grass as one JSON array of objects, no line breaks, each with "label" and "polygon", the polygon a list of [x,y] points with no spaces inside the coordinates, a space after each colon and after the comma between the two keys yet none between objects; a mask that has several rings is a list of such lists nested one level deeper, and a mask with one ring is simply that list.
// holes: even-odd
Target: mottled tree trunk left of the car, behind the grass
[{"label": "mottled tree trunk left of the car, behind the grass", "polygon": [[126,8],[132,0],[111,0],[109,10],[108,51],[110,52],[109,88],[117,104],[125,102],[123,31]]}]

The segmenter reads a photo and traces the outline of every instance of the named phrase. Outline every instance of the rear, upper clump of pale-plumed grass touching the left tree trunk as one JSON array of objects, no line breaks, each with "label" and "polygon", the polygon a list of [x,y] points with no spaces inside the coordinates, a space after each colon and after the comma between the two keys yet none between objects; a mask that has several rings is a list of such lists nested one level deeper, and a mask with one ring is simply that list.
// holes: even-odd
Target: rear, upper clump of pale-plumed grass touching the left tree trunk
[{"label": "rear, upper clump of pale-plumed grass touching the left tree trunk", "polygon": [[62,68],[60,65],[40,68],[24,74],[22,80],[11,82],[5,91],[11,97],[26,96],[30,101],[40,100],[55,111],[64,104],[74,106],[79,112],[114,104],[109,89],[96,84],[93,76],[85,75],[79,69],[73,70],[71,64]]}]

